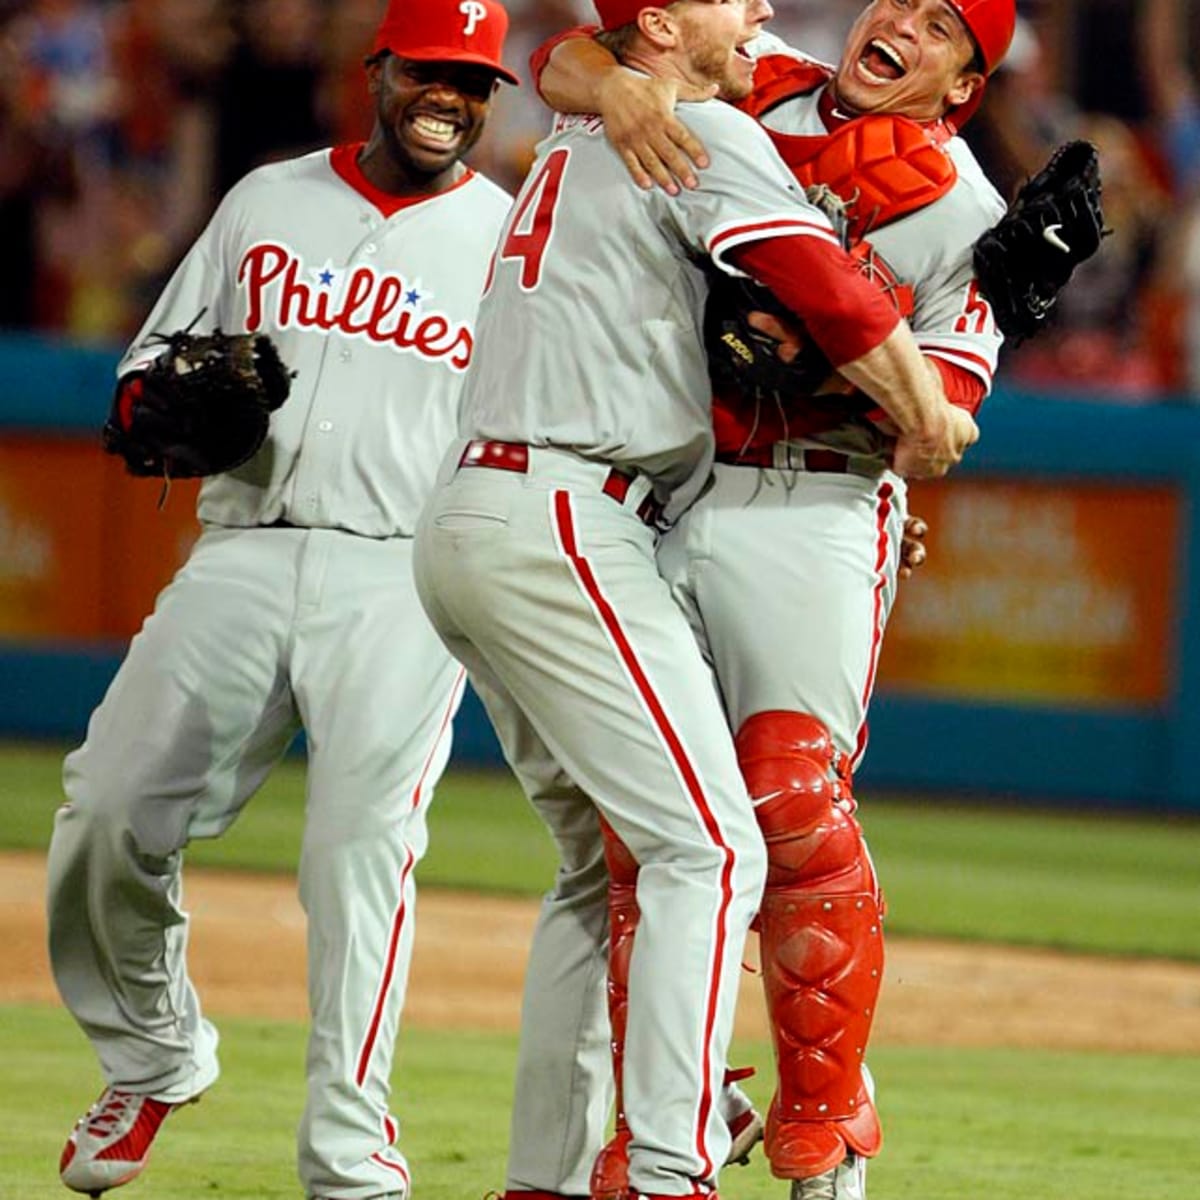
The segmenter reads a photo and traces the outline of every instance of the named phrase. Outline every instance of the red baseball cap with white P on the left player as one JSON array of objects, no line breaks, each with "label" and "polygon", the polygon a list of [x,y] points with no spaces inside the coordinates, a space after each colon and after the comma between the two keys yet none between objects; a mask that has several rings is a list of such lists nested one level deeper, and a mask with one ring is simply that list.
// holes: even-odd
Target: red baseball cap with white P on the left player
[{"label": "red baseball cap with white P on the left player", "polygon": [[509,14],[497,0],[389,0],[372,54],[414,62],[474,62],[521,80],[500,61]]}]

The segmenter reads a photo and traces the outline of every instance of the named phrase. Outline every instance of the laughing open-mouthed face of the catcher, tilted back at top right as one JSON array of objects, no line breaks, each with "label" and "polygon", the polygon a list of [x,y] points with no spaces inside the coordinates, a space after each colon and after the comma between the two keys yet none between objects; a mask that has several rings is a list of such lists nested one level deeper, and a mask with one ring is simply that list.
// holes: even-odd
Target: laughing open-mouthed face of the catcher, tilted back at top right
[{"label": "laughing open-mouthed face of the catcher, tilted back at top right", "polygon": [[983,85],[974,56],[947,0],[872,0],[850,31],[834,90],[854,113],[936,120]]}]

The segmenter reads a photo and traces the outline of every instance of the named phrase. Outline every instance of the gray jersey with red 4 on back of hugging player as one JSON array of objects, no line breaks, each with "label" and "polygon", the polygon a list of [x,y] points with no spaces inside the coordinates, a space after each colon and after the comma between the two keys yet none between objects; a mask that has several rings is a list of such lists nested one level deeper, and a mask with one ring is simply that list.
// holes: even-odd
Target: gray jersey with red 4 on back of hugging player
[{"label": "gray jersey with red 4 on back of hugging player", "polygon": [[712,462],[703,264],[763,238],[836,242],[762,127],[683,106],[712,166],[679,196],[642,191],[596,116],[558,116],[497,248],[463,396],[466,437],[554,446],[650,476],[672,508]]}]

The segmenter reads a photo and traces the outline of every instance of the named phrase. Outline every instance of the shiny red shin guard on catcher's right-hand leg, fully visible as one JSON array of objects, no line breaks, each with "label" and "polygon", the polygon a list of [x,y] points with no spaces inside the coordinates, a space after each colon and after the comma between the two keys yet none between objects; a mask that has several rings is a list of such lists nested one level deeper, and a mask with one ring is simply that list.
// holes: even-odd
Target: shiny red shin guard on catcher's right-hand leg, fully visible
[{"label": "shiny red shin guard on catcher's right-hand leg, fully visible", "polygon": [[767,1157],[776,1176],[808,1178],[882,1142],[862,1073],[883,973],[882,898],[824,726],[760,713],[737,746],[767,842],[758,932],[779,1070]]}]

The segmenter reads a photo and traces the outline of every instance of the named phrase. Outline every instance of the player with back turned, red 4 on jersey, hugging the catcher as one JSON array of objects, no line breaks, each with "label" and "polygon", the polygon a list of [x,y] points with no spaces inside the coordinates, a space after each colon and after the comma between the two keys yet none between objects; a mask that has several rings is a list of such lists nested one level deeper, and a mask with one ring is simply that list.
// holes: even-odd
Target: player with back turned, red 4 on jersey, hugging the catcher
[{"label": "player with back turned, red 4 on jersey, hugging the catcher", "polygon": [[[608,44],[637,70],[749,88],[744,5],[598,8]],[[595,810],[640,865],[623,1080],[638,1196],[716,1186],[730,1147],[718,1096],[763,870],[725,714],[654,558],[659,520],[695,500],[714,450],[701,263],[768,282],[896,421],[907,469],[941,474],[974,437],[762,128],[718,101],[689,118],[713,166],[677,198],[630,181],[599,119],[560,119],[541,144],[497,250],[463,438],[416,536],[421,599],[509,761],[521,773],[534,746],[594,798],[593,809],[568,791],[532,797],[564,875],[578,845],[598,841]],[[563,930],[556,955],[545,929],[534,962],[558,978],[578,932]],[[526,1020],[540,1034],[536,984]],[[584,991],[559,994],[554,1010],[578,1013]],[[532,1126],[544,1086],[518,1096]],[[560,1124],[551,1120],[524,1166],[510,1164],[510,1194],[554,1194],[541,1178],[562,1170]],[[584,1194],[587,1164],[560,1186]]]}]

